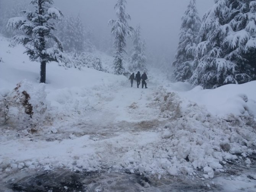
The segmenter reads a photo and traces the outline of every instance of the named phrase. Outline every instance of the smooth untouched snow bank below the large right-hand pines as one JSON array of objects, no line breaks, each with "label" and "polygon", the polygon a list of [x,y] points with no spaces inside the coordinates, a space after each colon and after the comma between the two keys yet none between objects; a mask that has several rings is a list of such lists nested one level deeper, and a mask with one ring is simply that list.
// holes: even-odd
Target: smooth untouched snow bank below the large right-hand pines
[{"label": "smooth untouched snow bank below the large right-hand pines", "polygon": [[[179,92],[181,98],[203,105],[213,115],[256,117],[256,81],[245,84],[228,84],[216,89],[197,86],[187,92]],[[186,104],[186,103],[185,103]],[[185,106],[184,106],[185,107]]]}]

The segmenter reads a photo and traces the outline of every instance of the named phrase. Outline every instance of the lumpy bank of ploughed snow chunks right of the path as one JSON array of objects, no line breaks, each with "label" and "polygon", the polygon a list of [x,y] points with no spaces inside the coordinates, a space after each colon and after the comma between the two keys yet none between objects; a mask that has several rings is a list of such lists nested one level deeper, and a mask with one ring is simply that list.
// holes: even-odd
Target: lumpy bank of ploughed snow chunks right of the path
[{"label": "lumpy bank of ploughed snow chunks right of the path", "polygon": [[167,172],[172,175],[203,168],[205,178],[212,178],[214,171],[222,171],[225,161],[235,160],[241,153],[246,157],[256,146],[256,122],[246,108],[247,116],[218,118],[193,102],[186,102],[184,107],[177,94],[162,88],[155,100],[162,115],[170,119],[162,129],[160,148],[165,153],[159,157],[165,157]]}]

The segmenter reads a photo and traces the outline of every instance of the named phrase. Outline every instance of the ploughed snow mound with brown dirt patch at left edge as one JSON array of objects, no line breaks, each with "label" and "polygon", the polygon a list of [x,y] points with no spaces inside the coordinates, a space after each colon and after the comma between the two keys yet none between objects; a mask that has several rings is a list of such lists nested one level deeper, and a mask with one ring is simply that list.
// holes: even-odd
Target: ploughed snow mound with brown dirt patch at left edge
[{"label": "ploughed snow mound with brown dirt patch at left edge", "polygon": [[0,98],[1,124],[36,131],[45,119],[45,98],[44,84],[34,87],[27,81],[20,82],[12,92]]}]

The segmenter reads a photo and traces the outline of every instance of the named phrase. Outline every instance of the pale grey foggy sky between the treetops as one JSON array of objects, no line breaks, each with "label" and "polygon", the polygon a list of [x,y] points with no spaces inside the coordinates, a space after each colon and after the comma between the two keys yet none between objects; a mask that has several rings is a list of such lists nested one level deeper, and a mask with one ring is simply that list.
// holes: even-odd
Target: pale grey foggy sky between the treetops
[{"label": "pale grey foggy sky between the treetops", "polygon": [[[117,0],[55,0],[55,6],[64,14],[80,14],[86,26],[95,32],[110,35],[109,19],[116,19],[114,5]],[[198,13],[203,17],[214,0],[197,0]],[[174,57],[180,32],[181,17],[189,0],[127,0],[126,12],[130,14],[132,27],[141,25],[142,38],[153,52],[170,52]]]}]

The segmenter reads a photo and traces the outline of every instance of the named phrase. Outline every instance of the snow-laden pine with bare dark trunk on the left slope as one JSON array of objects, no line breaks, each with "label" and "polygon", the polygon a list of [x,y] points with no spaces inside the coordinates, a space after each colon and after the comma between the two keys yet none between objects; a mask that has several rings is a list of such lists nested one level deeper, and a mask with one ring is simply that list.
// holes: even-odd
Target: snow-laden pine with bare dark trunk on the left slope
[{"label": "snow-laden pine with bare dark trunk on the left slope", "polygon": [[[31,61],[41,63],[40,82],[45,83],[46,63],[57,61],[63,55],[62,44],[52,34],[56,21],[62,17],[57,8],[52,7],[53,0],[32,0],[33,11],[23,11],[23,16],[11,18],[7,27],[13,30],[21,29],[25,35],[16,35],[14,39],[26,47]],[[56,44],[50,46],[50,40]]]}]

